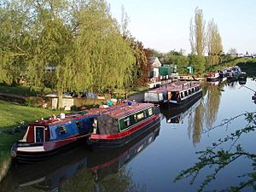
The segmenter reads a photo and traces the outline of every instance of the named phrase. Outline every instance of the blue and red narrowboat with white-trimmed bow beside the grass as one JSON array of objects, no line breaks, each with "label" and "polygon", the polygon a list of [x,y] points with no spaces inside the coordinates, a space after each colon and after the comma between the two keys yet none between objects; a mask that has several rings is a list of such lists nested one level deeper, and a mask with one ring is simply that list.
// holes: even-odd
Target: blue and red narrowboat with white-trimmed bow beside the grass
[{"label": "blue and red narrowboat with white-trimmed bow beside the grass", "polygon": [[89,137],[96,115],[82,111],[36,120],[11,148],[11,156],[19,162],[34,162],[59,154]]}]

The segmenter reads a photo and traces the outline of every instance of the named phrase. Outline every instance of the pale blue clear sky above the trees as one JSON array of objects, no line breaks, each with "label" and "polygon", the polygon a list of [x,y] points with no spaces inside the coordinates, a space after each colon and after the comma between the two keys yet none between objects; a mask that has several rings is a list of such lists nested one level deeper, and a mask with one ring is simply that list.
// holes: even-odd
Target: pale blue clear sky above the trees
[{"label": "pale blue clear sky above the trees", "polygon": [[106,0],[113,17],[121,20],[121,7],[129,16],[131,35],[145,48],[160,52],[185,49],[190,53],[189,23],[195,8],[218,25],[224,52],[256,54],[256,0]]}]

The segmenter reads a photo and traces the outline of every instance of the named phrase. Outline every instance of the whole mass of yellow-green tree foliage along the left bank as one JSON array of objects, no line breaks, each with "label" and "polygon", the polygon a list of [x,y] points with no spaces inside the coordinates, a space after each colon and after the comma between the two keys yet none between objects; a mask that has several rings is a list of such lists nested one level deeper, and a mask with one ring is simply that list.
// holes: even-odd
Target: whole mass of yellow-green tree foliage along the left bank
[{"label": "whole mass of yellow-green tree foliage along the left bank", "polygon": [[102,93],[123,89],[134,82],[134,71],[139,79],[147,68],[143,45],[123,37],[104,0],[9,0],[0,16],[0,83],[25,77],[60,96]]}]

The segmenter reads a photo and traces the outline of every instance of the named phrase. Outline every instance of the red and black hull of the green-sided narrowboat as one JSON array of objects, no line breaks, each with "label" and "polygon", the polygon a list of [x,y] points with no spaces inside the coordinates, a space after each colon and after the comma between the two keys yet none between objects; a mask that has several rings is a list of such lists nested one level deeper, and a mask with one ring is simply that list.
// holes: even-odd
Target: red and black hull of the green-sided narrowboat
[{"label": "red and black hull of the green-sided narrowboat", "polygon": [[125,131],[122,137],[105,137],[105,138],[90,138],[87,140],[87,144],[91,150],[102,150],[110,148],[119,148],[127,143],[130,143],[135,138],[142,135],[145,131],[148,131],[152,126],[160,123],[160,113],[153,118],[148,119],[146,122],[142,122],[136,125],[134,128]]}]

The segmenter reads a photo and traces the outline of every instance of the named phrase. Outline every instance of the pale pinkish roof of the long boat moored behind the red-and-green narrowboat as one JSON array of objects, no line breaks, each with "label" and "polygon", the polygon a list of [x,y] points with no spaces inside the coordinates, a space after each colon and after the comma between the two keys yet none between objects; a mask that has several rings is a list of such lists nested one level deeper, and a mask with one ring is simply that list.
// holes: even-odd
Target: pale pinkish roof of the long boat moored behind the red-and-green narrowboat
[{"label": "pale pinkish roof of the long boat moored behind the red-and-green narrowboat", "polygon": [[162,93],[162,92],[180,92],[183,90],[189,90],[193,87],[197,87],[200,85],[200,82],[187,82],[187,81],[178,81],[172,84],[163,85],[160,88],[149,90],[148,93]]}]

